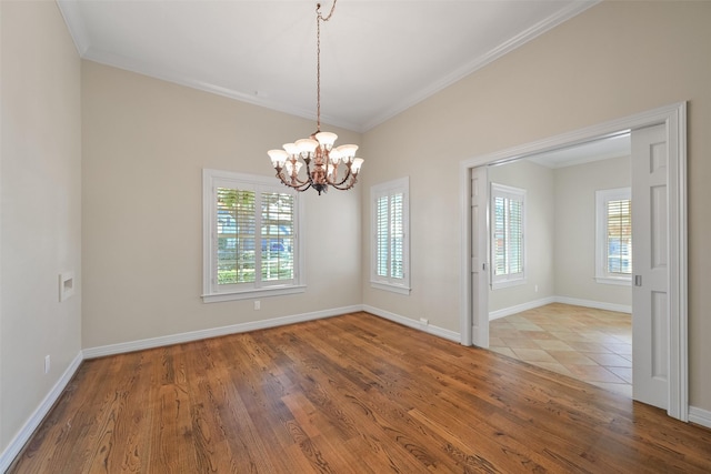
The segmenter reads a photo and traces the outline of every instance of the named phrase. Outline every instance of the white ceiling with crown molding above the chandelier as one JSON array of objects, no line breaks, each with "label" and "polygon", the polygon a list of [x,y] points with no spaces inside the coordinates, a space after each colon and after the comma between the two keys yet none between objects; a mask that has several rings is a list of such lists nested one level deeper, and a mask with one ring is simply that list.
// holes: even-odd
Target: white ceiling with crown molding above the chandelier
[{"label": "white ceiling with crown molding above the chandelier", "polygon": [[[321,120],[369,130],[597,2],[340,0]],[[58,3],[82,58],[316,120],[317,1]]]}]

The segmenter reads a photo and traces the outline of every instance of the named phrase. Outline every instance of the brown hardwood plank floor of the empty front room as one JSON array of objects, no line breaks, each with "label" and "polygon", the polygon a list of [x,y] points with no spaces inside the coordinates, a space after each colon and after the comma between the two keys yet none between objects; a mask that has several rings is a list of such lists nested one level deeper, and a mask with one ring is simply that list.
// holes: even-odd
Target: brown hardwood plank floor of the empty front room
[{"label": "brown hardwood plank floor of the empty front room", "polygon": [[82,363],[10,473],[708,473],[711,431],[354,313]]}]

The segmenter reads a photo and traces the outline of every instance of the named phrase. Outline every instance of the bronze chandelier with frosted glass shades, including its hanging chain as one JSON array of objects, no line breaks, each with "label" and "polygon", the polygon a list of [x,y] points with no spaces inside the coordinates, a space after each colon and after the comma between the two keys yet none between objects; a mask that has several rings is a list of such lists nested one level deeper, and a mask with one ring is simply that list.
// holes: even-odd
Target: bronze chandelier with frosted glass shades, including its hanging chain
[{"label": "bronze chandelier with frosted glass shades, including its hanging chain", "polygon": [[[358,145],[343,144],[334,147],[338,135],[321,131],[321,22],[329,21],[336,9],[336,1],[327,17],[321,16],[321,3],[317,3],[317,128],[308,139],[300,139],[293,143],[284,143],[283,150],[269,150],[267,154],[277,170],[277,178],[286,185],[297,191],[313,188],[319,192],[327,192],[329,186],[338,190],[349,190],[358,182],[358,172],[363,164],[361,158],[356,158]],[[306,175],[299,174],[306,165]]]}]

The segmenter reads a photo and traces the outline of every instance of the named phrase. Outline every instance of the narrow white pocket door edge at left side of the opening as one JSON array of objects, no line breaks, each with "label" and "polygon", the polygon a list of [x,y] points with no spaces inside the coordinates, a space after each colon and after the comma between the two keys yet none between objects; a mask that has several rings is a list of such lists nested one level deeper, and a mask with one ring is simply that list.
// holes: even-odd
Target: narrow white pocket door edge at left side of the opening
[{"label": "narrow white pocket door edge at left side of the opening", "polygon": [[488,181],[487,167],[471,170],[471,320],[472,343],[479,347],[489,347]]}]

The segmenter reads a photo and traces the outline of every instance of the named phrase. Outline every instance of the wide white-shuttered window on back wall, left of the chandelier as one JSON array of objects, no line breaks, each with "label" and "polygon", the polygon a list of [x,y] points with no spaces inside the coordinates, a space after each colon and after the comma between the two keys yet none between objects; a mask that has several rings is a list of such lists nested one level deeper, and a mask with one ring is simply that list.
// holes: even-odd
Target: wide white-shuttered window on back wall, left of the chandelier
[{"label": "wide white-shuttered window on back wall, left of the chandelier", "polygon": [[206,303],[303,292],[299,200],[272,178],[203,170]]}]

